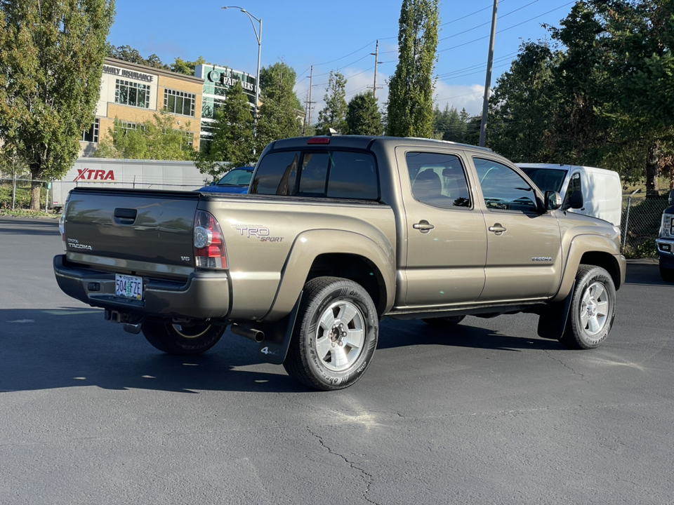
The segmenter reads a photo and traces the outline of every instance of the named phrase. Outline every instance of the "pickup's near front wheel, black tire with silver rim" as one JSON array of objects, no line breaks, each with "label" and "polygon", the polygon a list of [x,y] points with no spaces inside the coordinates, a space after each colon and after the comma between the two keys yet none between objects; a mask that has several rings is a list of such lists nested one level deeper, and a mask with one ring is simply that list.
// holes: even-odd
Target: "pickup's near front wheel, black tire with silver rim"
[{"label": "pickup's near front wheel, black tire with silver rim", "polygon": [[609,335],[616,317],[616,286],[609,273],[581,265],[571,294],[567,327],[560,342],[569,349],[595,349]]}]

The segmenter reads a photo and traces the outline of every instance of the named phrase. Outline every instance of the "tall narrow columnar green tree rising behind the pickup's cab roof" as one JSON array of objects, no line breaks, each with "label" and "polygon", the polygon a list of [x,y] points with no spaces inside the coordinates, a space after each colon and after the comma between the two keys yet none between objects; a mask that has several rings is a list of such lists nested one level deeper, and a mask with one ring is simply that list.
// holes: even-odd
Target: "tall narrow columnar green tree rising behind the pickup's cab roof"
[{"label": "tall narrow columnar green tree rising behind the pickup's cab roof", "polygon": [[388,83],[387,134],[431,137],[438,0],[403,0],[398,65]]}]

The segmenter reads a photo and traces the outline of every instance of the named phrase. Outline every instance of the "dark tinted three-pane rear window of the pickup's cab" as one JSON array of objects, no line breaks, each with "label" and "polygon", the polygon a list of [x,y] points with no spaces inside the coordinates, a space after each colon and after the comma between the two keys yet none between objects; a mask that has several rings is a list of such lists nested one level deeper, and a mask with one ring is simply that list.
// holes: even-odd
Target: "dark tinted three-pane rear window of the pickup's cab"
[{"label": "dark tinted three-pane rear window of the pickup's cab", "polygon": [[251,194],[379,199],[374,156],[368,152],[303,149],[267,153]]}]

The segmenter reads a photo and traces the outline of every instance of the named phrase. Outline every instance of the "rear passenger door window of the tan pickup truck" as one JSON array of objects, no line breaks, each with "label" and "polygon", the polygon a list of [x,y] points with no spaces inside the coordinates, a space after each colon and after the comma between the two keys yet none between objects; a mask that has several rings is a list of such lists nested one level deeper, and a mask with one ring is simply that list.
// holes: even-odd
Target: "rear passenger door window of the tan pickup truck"
[{"label": "rear passenger door window of the tan pickup truck", "polygon": [[405,155],[412,195],[436,207],[470,207],[461,160],[454,154],[408,152]]}]

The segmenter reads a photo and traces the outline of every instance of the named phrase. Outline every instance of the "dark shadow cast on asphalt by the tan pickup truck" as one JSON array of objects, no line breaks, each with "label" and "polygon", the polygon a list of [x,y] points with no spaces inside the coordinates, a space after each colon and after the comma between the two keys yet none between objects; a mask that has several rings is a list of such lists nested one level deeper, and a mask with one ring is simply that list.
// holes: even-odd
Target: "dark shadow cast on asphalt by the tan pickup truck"
[{"label": "dark shadow cast on asphalt by the tan pickup truck", "polygon": [[[169,356],[143,335],[103,320],[103,311],[0,310],[0,393],[96,386],[198,394],[201,391],[312,392],[284,368],[258,360],[258,344],[227,330],[199,356]],[[529,332],[531,333],[531,332]],[[410,345],[465,346],[519,352],[555,349],[555,341],[513,337],[467,324],[450,330],[421,321],[383,323],[379,349]]]}]

